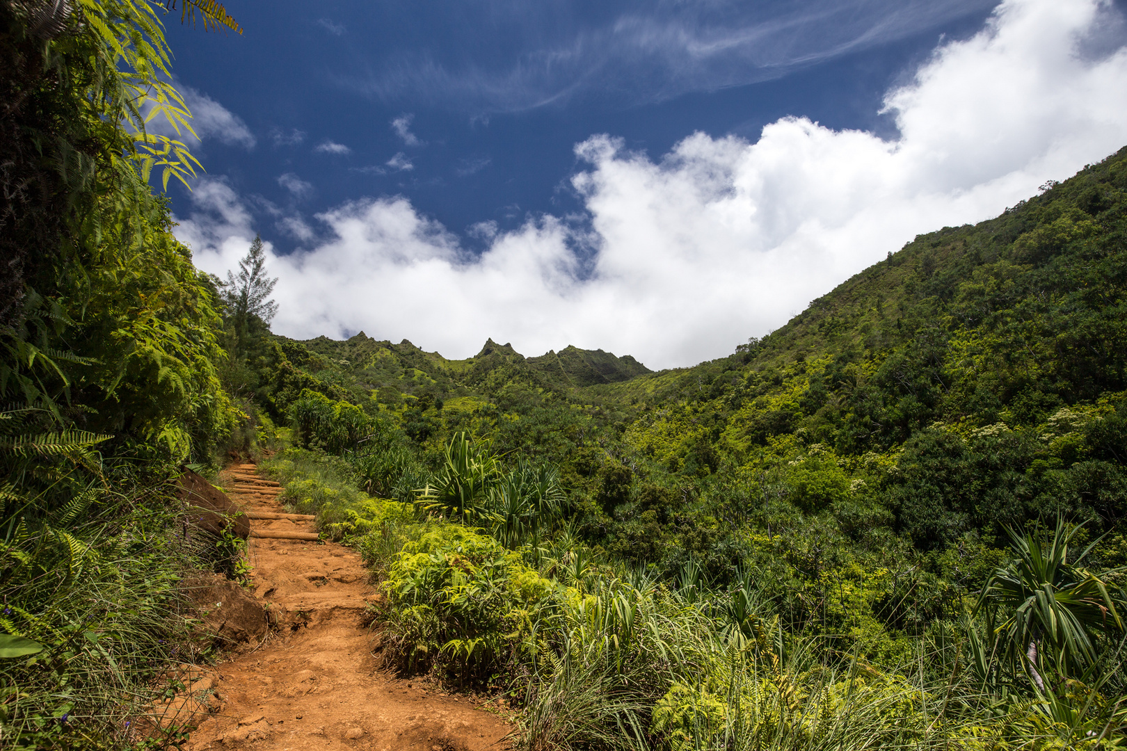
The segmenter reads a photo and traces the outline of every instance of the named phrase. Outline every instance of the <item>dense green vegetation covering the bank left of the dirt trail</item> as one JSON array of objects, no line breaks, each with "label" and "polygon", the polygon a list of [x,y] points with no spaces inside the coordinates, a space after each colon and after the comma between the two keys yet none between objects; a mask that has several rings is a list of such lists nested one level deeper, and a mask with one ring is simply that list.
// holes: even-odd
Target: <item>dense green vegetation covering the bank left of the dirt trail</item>
[{"label": "dense green vegetation covering the bank left of the dirt trail", "polygon": [[[184,11],[198,12],[194,3]],[[169,479],[242,420],[212,283],[153,169],[184,179],[159,6],[0,5],[0,745],[112,748],[190,644]],[[208,6],[205,24],[227,25]]]}]

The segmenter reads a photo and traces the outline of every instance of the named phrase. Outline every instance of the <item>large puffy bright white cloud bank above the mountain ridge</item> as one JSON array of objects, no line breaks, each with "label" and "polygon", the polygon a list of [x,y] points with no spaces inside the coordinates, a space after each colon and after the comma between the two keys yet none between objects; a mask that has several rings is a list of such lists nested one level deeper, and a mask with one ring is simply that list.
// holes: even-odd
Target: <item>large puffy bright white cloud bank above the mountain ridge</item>
[{"label": "large puffy bright white cloud bank above the mountain ridge", "polygon": [[[893,141],[786,118],[754,143],[698,133],[655,161],[593,136],[573,178],[589,224],[543,216],[491,238],[480,224],[480,257],[405,198],[347,203],[317,216],[329,240],[272,256],[275,330],[363,329],[447,357],[486,337],[650,367],[728,354],[916,233],[994,216],[1127,143],[1127,50],[1082,52],[1115,14],[1006,0],[888,92]],[[193,200],[178,233],[202,268],[225,272],[250,217],[222,182]]]}]

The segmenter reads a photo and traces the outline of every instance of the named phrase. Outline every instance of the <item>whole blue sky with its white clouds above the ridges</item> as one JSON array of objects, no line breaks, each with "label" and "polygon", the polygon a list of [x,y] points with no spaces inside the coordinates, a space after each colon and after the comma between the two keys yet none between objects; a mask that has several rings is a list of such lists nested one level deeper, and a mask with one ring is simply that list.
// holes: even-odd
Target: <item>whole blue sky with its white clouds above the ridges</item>
[{"label": "whole blue sky with its white clouds above the ridges", "polygon": [[1127,143],[1095,0],[228,9],[169,24],[174,212],[213,272],[269,242],[295,337],[689,365]]}]

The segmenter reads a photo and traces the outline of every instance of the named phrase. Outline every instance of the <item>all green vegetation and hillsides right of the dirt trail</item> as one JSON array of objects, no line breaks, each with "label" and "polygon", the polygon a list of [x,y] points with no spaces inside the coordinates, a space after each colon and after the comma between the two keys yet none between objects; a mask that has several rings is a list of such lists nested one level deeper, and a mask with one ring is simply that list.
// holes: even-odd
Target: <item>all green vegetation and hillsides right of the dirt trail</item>
[{"label": "all green vegetation and hillsides right of the dirt trail", "polygon": [[693,368],[274,337],[273,471],[400,669],[529,748],[1121,744],[1125,189],[1127,151]]}]

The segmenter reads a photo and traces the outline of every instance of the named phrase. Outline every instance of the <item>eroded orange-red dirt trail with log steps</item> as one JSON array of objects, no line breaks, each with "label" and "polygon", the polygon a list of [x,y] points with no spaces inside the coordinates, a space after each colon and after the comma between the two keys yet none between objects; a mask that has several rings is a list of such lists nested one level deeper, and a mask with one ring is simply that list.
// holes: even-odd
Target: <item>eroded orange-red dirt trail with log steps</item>
[{"label": "eroded orange-red dirt trail with log steps", "polygon": [[[276,484],[254,465],[224,473],[232,500],[246,511],[282,512]],[[314,531],[307,520],[251,520],[264,531]],[[219,665],[222,708],[192,733],[189,749],[372,749],[485,751],[507,749],[512,725],[381,671],[374,634],[361,625],[369,585],[360,557],[334,544],[251,538],[255,592],[277,614],[261,645]]]}]

